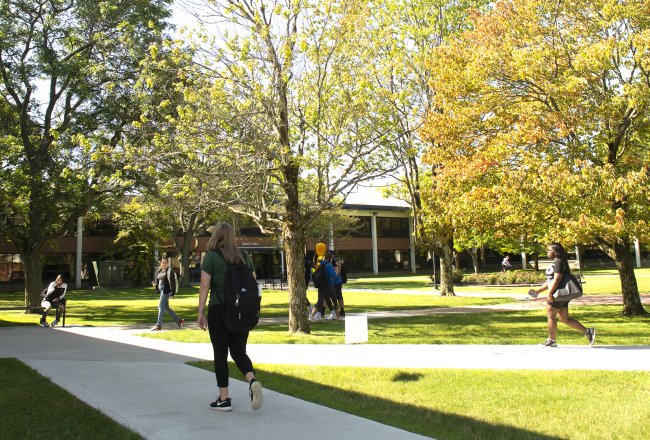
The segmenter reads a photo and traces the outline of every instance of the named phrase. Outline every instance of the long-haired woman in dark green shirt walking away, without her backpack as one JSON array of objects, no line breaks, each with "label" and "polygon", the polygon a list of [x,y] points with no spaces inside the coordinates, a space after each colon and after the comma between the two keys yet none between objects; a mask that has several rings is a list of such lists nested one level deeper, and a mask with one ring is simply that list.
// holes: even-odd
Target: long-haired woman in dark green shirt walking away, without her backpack
[{"label": "long-haired woman in dark green shirt walking away, without her backpack", "polygon": [[[246,264],[255,274],[255,266],[250,256],[240,251],[235,245],[235,232],[228,223],[218,223],[208,244],[207,254],[201,264],[201,287],[199,289],[199,319],[201,330],[210,332],[210,341],[214,350],[214,372],[217,376],[219,396],[210,404],[210,408],[218,411],[231,411],[232,402],[228,397],[228,352],[235,361],[237,368],[248,382],[248,394],[251,408],[258,410],[262,407],[262,385],[255,380],[253,363],[246,354],[248,331],[231,332],[226,328],[223,316],[224,286],[228,264]],[[208,301],[208,318],[204,311]]]}]

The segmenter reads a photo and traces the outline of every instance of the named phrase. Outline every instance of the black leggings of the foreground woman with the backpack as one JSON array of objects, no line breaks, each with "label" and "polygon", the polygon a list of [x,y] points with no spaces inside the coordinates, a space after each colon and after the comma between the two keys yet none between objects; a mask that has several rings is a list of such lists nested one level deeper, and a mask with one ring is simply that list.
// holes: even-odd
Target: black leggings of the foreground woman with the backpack
[{"label": "black leggings of the foreground woman with the backpack", "polygon": [[230,357],[244,376],[246,373],[255,373],[253,363],[246,354],[248,332],[233,333],[228,330],[223,320],[221,306],[212,306],[208,309],[208,330],[214,351],[214,373],[219,388],[228,387],[228,350],[230,350]]}]

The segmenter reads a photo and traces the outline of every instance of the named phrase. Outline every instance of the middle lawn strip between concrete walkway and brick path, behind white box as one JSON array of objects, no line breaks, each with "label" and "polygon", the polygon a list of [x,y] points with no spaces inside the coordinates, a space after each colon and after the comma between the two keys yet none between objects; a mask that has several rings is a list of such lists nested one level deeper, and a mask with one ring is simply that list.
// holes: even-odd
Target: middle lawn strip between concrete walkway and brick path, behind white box
[{"label": "middle lawn strip between concrete walkway and brick path, behind white box", "polygon": [[[598,345],[650,345],[650,316],[628,318],[620,306],[579,306],[571,315],[588,327],[596,327]],[[206,343],[207,332],[144,333],[142,336],[178,342]],[[445,315],[368,320],[369,344],[538,344],[546,338],[543,310],[454,313]],[[558,323],[560,345],[584,345],[584,336]],[[344,344],[345,323],[320,321],[311,334],[288,332],[287,325],[258,326],[248,338],[251,344]]]}]

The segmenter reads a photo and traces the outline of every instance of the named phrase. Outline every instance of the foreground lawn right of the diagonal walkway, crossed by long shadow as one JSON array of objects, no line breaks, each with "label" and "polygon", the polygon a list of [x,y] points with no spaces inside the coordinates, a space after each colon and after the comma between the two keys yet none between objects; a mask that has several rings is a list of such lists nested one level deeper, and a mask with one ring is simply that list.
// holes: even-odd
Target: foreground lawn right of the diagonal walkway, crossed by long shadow
[{"label": "foreground lawn right of the diagonal walkway, crossed by long shadow", "polygon": [[[212,371],[212,362],[192,364]],[[638,439],[650,417],[649,372],[255,370],[269,389],[444,440]]]}]

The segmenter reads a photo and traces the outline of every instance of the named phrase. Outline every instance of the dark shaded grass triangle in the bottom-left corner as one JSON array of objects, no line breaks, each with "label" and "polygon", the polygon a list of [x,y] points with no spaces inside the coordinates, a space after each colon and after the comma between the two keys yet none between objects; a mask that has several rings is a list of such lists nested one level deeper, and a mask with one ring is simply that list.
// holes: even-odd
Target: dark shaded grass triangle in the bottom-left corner
[{"label": "dark shaded grass triangle in the bottom-left corner", "polygon": [[0,359],[1,439],[141,439],[16,359]]}]

